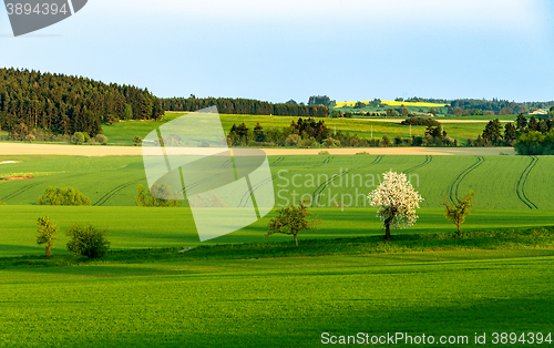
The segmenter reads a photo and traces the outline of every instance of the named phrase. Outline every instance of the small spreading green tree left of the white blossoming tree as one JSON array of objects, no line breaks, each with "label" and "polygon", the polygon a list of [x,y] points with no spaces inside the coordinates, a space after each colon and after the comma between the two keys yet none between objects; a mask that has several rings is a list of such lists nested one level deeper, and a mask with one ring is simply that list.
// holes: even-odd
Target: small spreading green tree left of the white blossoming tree
[{"label": "small spreading green tree left of the white blossoming tree", "polygon": [[266,238],[273,234],[280,233],[295,237],[296,246],[298,246],[298,233],[304,229],[319,229],[319,219],[309,219],[311,213],[307,202],[302,202],[299,206],[290,205],[285,208],[277,209],[277,217],[269,221],[267,226]]}]

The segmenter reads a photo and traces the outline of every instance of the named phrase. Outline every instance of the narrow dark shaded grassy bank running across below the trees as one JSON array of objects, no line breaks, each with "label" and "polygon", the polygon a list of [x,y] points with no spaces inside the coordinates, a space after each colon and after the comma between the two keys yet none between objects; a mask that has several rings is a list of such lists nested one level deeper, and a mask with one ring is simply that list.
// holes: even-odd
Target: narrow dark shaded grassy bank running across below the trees
[{"label": "narrow dark shaded grassy bank running across below the trees", "polygon": [[[289,238],[290,239],[290,238]],[[130,263],[198,262],[222,259],[258,259],[281,257],[317,257],[369,254],[398,254],[438,250],[513,249],[554,247],[554,227],[497,228],[455,232],[396,234],[390,242],[381,235],[347,238],[306,239],[296,247],[291,240],[280,243],[203,244],[179,253],[182,248],[147,248],[109,250],[100,259],[54,255],[0,257],[0,269],[115,265]]]}]

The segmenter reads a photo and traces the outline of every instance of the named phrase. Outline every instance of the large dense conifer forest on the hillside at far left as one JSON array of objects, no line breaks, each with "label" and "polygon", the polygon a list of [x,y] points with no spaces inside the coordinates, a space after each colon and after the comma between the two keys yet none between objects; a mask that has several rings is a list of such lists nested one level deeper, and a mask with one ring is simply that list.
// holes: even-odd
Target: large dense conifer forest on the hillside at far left
[{"label": "large dense conifer forest on the hillside at far left", "polygon": [[[0,129],[22,139],[34,130],[51,134],[102,133],[102,123],[158,120],[160,99],[131,85],[82,76],[0,69]],[[22,139],[25,140],[25,139]]]}]

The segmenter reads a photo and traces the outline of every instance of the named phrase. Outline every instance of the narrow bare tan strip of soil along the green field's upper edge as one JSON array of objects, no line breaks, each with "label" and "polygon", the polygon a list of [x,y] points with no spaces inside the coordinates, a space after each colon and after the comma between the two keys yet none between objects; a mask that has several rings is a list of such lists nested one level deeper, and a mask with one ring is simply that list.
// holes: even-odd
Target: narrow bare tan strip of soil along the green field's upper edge
[{"label": "narrow bare tan strip of soil along the green field's upper edge", "polygon": [[[317,155],[328,151],[331,155],[515,155],[513,147],[369,147],[369,149],[263,149],[269,156]],[[140,146],[50,145],[0,143],[2,155],[69,155],[69,156],[142,156]],[[0,158],[1,160],[1,158]]]}]

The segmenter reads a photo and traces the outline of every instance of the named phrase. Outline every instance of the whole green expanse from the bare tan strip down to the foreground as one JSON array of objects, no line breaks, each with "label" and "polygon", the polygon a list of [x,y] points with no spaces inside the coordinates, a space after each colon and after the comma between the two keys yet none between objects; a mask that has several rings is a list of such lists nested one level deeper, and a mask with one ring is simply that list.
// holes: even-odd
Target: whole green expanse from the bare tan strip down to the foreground
[{"label": "whole green expanse from the bare tan strip down to the foreground", "polygon": [[[554,334],[554,249],[534,237],[524,249],[511,249],[509,242],[509,249],[347,256],[369,253],[350,248],[383,233],[377,209],[362,202],[389,170],[411,175],[425,198],[417,224],[392,233],[409,250],[419,242],[408,237],[455,232],[439,203],[469,190],[476,192],[478,206],[463,229],[493,238],[479,248],[497,247],[505,238],[501,227],[552,225],[548,156],[270,156],[277,205],[306,194],[321,219],[319,231],[300,233],[298,249],[289,236],[264,238],[275,212],[199,243],[189,208],[134,206],[136,186],[145,184],[142,157],[2,156],[0,162],[10,160],[21,162],[0,164],[0,177],[34,177],[0,181],[0,199],[8,204],[0,205],[0,347],[312,347],[322,332],[466,336],[469,346],[475,332],[486,332],[481,347],[497,347],[493,332]],[[49,185],[71,185],[94,206],[35,205]],[[345,206],[334,207],[329,193]],[[346,202],[350,196],[359,198],[358,207]],[[29,259],[45,262],[34,239],[35,221],[44,215],[62,231],[53,262],[70,257],[63,231],[72,223],[107,227],[114,253],[65,266],[32,264]],[[474,247],[464,240],[454,242]],[[194,259],[203,248],[176,259],[178,248],[197,246],[212,246],[209,258],[216,260]],[[249,247],[263,256],[228,257],[235,250],[243,258]],[[164,252],[147,248],[172,248],[165,253],[175,256],[156,259],[152,253]],[[264,258],[276,248],[291,250]],[[343,256],[297,257],[306,256],[302,250]],[[133,257],[125,256],[130,253]]]}]

